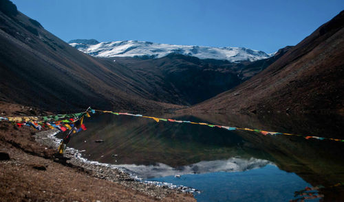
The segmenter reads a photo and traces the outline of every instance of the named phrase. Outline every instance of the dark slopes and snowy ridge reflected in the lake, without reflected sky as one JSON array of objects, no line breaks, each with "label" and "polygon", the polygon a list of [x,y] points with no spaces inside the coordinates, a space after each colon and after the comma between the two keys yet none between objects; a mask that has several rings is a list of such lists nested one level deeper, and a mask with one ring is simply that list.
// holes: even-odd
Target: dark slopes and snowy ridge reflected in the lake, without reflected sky
[{"label": "dark slopes and snowy ridge reflected in the lake, without reflected sky", "polygon": [[[264,116],[238,114],[144,114],[160,118],[249,127],[305,136],[343,138],[343,116]],[[344,199],[344,142],[305,140],[297,136],[262,136],[186,123],[155,123],[147,118],[94,114],[87,131],[69,147],[89,160],[125,167],[145,179],[189,173],[236,172],[275,164],[312,186],[323,185],[324,201]],[[104,140],[96,143],[95,140]],[[234,163],[235,162],[235,163]],[[295,190],[297,191],[297,190]]]}]

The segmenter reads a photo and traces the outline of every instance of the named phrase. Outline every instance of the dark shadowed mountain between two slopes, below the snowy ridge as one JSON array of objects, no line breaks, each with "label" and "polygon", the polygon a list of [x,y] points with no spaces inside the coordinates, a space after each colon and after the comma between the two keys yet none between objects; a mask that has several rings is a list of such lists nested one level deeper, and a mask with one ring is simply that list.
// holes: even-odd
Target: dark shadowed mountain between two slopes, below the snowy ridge
[{"label": "dark shadowed mountain between two slopes, below the snowy ridge", "polygon": [[288,49],[255,62],[228,62],[171,53],[158,59],[103,58],[131,69],[150,84],[157,101],[194,105],[234,88],[272,64]]}]

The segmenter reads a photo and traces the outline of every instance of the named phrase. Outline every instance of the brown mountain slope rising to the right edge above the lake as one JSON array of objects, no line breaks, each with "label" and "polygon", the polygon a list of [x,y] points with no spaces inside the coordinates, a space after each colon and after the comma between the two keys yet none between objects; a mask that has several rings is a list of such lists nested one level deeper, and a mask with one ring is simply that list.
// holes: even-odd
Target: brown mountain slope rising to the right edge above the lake
[{"label": "brown mountain slope rising to the right edge above the lake", "polygon": [[344,112],[344,11],[243,84],[190,110]]}]

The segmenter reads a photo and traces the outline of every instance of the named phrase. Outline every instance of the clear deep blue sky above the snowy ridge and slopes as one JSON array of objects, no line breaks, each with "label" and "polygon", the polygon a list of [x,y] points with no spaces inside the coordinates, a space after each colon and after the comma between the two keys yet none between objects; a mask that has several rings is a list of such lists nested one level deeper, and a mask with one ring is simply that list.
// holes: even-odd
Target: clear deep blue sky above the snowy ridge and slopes
[{"label": "clear deep blue sky above the snowy ridge and slopes", "polygon": [[246,47],[272,53],[296,45],[344,9],[343,0],[12,0],[69,41],[144,40]]}]

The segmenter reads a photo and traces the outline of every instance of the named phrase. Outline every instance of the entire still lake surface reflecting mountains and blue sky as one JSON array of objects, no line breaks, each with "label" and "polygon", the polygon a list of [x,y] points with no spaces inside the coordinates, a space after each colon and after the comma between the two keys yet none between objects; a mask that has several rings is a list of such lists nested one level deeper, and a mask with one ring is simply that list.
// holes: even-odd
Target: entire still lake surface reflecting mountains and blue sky
[{"label": "entire still lake surface reflecting mountains and blue sky", "polygon": [[[344,123],[343,116],[325,115],[144,115],[328,138],[341,138]],[[318,186],[308,192],[323,195],[321,201],[344,201],[344,142],[114,114],[94,114],[85,125],[69,147],[142,179],[196,188],[197,201],[290,201],[310,197],[294,197],[306,186]]]}]

